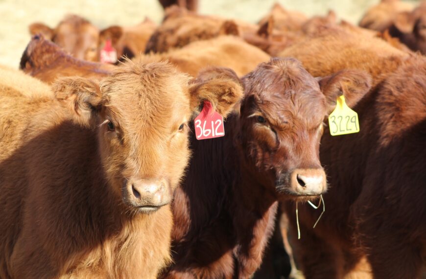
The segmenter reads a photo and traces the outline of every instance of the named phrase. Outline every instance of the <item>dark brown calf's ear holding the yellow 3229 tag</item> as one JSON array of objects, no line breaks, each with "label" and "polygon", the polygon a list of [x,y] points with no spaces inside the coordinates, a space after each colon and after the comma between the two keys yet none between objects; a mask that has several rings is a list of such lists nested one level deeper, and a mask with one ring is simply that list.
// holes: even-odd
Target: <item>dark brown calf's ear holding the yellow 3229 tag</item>
[{"label": "dark brown calf's ear holding the yellow 3229 tag", "polygon": [[346,104],[354,107],[370,90],[371,76],[361,70],[341,70],[332,75],[318,78],[322,93],[326,96],[328,112],[336,107],[337,97],[344,95]]}]

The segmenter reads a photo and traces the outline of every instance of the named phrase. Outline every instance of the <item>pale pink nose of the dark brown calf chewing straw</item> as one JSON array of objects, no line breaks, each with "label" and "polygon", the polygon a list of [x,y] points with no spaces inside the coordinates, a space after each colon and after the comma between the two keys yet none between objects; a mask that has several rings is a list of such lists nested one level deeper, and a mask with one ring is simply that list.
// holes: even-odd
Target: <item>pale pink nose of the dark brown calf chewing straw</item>
[{"label": "pale pink nose of the dark brown calf chewing straw", "polygon": [[322,168],[295,169],[291,173],[291,190],[297,195],[320,195],[327,186]]}]

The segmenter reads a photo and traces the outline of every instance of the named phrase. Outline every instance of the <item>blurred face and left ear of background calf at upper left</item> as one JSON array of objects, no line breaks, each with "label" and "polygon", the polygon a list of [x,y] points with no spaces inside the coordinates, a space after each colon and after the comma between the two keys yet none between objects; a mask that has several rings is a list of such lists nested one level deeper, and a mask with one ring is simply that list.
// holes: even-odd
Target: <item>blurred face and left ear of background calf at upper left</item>
[{"label": "blurred face and left ear of background calf at upper left", "polygon": [[99,29],[77,15],[68,15],[55,28],[44,23],[29,25],[31,35],[42,34],[78,59],[98,61]]}]

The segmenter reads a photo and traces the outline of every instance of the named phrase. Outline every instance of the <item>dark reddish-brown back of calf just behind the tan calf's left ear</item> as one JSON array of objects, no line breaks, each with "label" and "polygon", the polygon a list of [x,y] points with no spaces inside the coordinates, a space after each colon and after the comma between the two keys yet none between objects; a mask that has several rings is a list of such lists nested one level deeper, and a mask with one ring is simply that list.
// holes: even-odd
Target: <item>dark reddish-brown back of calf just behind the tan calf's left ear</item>
[{"label": "dark reddish-brown back of calf just behind the tan calf's left ear", "polygon": [[116,67],[109,64],[79,60],[59,46],[36,35],[21,57],[20,69],[44,82],[53,83],[58,77],[84,76],[100,79],[111,74]]}]

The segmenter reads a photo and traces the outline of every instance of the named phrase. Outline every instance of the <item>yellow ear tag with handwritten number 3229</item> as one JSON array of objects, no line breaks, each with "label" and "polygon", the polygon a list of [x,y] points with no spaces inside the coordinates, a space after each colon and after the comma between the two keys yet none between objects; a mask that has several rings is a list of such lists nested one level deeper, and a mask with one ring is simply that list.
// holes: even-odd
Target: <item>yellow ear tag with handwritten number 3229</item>
[{"label": "yellow ear tag with handwritten number 3229", "polygon": [[343,95],[337,97],[336,108],[329,116],[329,127],[331,136],[359,132],[358,114],[348,107]]}]

